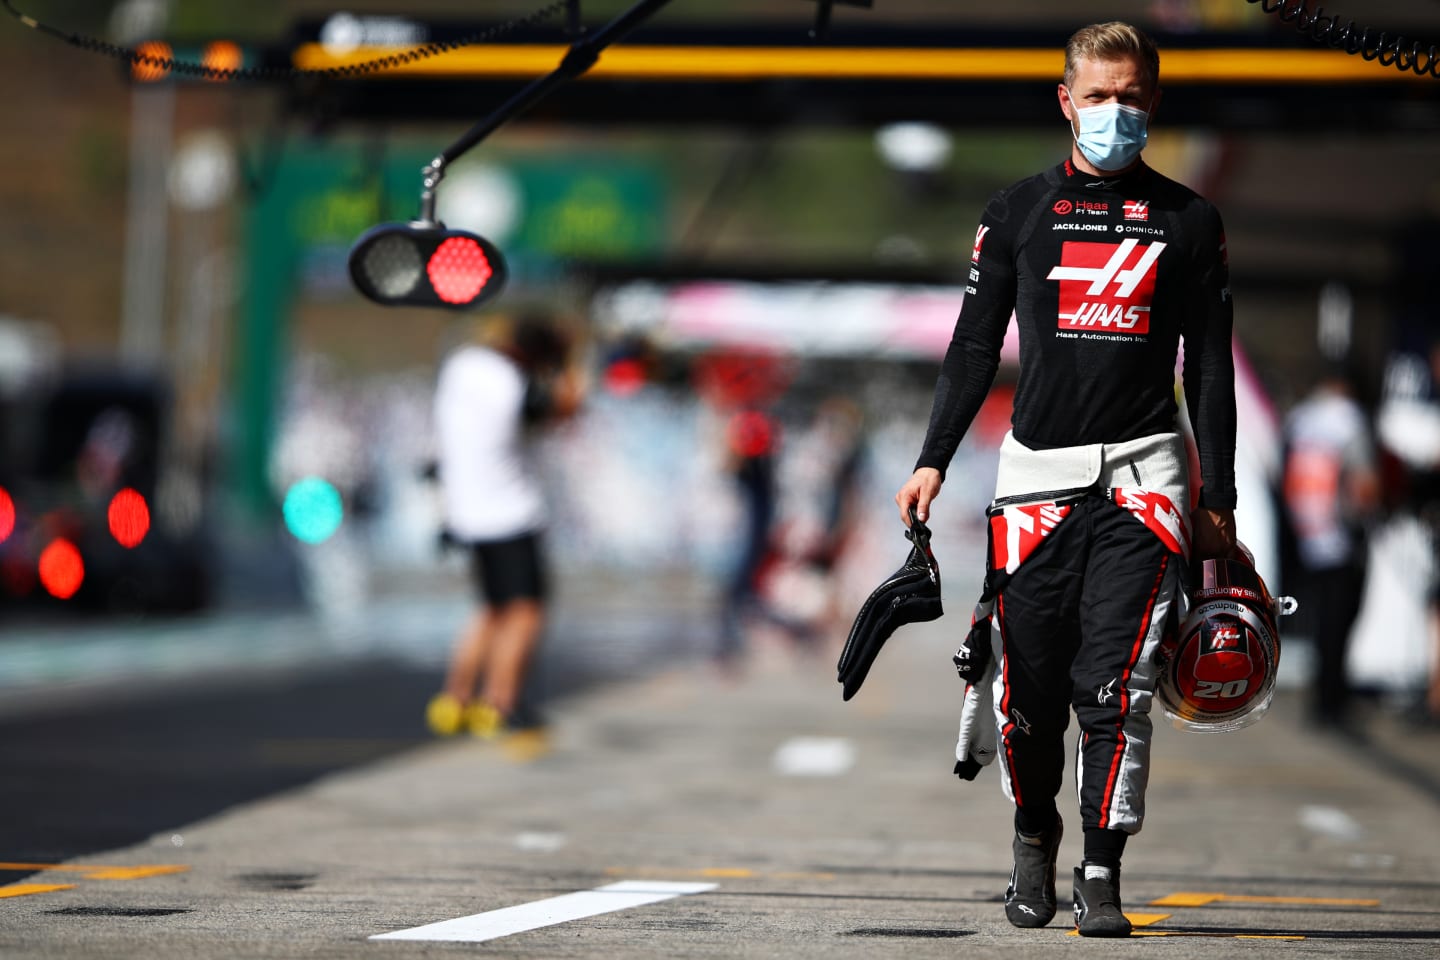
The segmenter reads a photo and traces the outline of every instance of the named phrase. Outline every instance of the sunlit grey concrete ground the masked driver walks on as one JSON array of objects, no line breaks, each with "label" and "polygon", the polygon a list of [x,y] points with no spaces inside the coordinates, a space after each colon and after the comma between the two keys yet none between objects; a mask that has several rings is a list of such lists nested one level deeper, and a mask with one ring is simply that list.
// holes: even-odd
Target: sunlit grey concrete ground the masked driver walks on
[{"label": "sunlit grey concrete ground the masked driver walks on", "polygon": [[[1158,725],[1123,887],[1164,936],[1083,941],[1064,907],[1011,928],[998,774],[950,774],[949,626],[904,628],[848,704],[831,652],[766,642],[739,676],[691,664],[564,699],[544,750],[436,741],[39,871],[0,888],[0,956],[1440,956],[1440,799],[1303,727],[1292,691],[1240,733]],[[1404,735],[1440,763],[1434,731]],[[484,943],[370,940],[618,881],[714,888]]]}]

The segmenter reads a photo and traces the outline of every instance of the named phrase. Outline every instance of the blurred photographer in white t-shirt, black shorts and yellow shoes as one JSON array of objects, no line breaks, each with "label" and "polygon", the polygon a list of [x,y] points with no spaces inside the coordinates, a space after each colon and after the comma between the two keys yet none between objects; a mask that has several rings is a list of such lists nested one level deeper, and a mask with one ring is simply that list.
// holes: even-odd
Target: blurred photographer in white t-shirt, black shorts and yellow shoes
[{"label": "blurred photographer in white t-shirt, black shorts and yellow shoes", "polygon": [[546,502],[530,449],[573,416],[583,381],[573,344],[540,312],[491,317],[441,363],[435,390],[442,535],[469,553],[478,606],[456,638],[444,689],[426,708],[441,735],[539,730],[526,679],[550,596]]}]

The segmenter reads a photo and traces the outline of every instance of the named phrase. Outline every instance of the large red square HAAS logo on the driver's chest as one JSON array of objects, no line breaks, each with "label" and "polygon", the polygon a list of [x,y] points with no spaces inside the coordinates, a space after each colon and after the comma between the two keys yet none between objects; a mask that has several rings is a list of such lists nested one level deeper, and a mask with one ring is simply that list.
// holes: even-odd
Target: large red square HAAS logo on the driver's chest
[{"label": "large red square HAAS logo on the driver's chest", "polygon": [[1164,243],[1081,243],[1067,240],[1060,266],[1048,279],[1060,281],[1060,330],[1151,332],[1155,262]]}]

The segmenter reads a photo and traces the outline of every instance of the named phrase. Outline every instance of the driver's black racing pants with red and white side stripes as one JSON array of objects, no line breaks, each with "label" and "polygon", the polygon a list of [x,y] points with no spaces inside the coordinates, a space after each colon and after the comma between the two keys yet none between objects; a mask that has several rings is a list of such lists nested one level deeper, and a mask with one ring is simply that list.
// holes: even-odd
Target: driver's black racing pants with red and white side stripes
[{"label": "driver's black racing pants with red and white side stripes", "polygon": [[1179,583],[1179,557],[1143,522],[1087,497],[1004,584],[995,712],[1005,793],[1025,819],[1053,818],[1074,710],[1081,826],[1139,832],[1153,653]]}]

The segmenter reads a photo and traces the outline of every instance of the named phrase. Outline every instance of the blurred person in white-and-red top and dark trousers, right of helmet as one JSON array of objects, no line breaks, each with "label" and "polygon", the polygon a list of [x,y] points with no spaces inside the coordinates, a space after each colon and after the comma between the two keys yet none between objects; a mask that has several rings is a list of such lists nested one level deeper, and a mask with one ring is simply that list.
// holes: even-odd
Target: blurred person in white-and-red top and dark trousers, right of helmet
[{"label": "blurred person in white-and-red top and dark trousers, right of helmet", "polygon": [[1338,727],[1349,711],[1345,655],[1365,593],[1368,531],[1381,507],[1369,419],[1338,366],[1286,417],[1282,484],[1300,571],[1297,599],[1315,623],[1310,721]]}]

